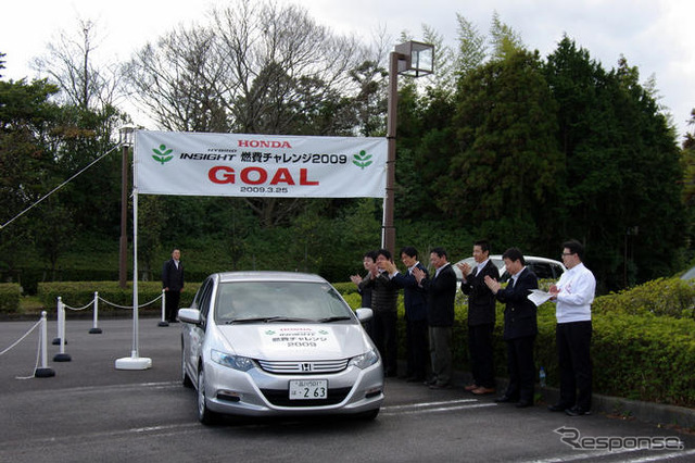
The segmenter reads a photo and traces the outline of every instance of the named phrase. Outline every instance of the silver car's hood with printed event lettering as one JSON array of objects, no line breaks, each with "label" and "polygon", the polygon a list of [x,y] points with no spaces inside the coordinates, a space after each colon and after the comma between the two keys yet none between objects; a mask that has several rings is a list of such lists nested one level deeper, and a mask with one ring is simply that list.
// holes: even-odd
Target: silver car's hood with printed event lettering
[{"label": "silver car's hood with printed event lettering", "polygon": [[354,324],[262,324],[218,327],[237,355],[258,360],[334,360],[363,354],[372,348]]}]

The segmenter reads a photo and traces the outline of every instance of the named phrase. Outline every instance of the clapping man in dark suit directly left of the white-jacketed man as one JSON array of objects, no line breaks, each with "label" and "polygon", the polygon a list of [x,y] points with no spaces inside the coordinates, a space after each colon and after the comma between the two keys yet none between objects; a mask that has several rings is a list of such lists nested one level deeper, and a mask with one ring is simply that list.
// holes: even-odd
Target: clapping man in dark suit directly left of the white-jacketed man
[{"label": "clapping man in dark suit directly left of the white-jacketed man", "polygon": [[507,287],[485,277],[485,284],[500,302],[506,303],[504,311],[504,340],[507,342],[507,368],[509,385],[504,396],[496,402],[517,402],[517,408],[533,405],[533,341],[539,333],[535,304],[528,298],[531,289],[538,289],[539,280],[527,268],[523,254],[517,248],[509,248],[502,254],[504,264],[511,275]]}]

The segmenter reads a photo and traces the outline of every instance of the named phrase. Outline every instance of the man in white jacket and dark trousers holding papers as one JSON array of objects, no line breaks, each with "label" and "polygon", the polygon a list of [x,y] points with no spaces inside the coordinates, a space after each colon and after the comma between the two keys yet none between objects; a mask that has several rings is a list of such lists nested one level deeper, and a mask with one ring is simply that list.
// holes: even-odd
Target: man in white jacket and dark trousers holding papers
[{"label": "man in white jacket and dark trousers holding papers", "polygon": [[560,367],[560,398],[552,412],[570,416],[589,414],[592,396],[591,303],[596,278],[582,262],[584,247],[577,240],[563,243],[563,263],[568,268],[557,285],[551,286],[552,301],[557,303],[555,331]]}]

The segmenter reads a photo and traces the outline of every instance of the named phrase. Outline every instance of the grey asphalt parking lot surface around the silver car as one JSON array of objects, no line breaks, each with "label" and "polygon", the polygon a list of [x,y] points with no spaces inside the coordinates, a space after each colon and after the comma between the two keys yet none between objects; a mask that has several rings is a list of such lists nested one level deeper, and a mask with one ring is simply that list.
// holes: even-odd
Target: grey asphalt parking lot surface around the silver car
[{"label": "grey asphalt parking lot surface around the silver car", "polygon": [[[198,423],[195,395],[180,384],[180,325],[140,318],[144,371],[116,370],[129,356],[130,320],[68,320],[65,353],[49,322],[54,377],[30,376],[38,333],[0,356],[0,461],[4,462],[647,462],[695,461],[695,436],[605,413],[569,417],[544,404],[518,410],[457,387],[430,390],[388,378],[374,422],[345,417]],[[0,351],[35,322],[0,323]]]}]

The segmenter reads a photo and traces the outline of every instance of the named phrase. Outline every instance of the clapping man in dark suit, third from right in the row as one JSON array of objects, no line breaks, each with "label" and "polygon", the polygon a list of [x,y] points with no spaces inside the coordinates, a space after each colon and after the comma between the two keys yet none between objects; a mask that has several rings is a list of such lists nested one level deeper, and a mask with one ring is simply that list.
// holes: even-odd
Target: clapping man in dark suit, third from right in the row
[{"label": "clapping man in dark suit, third from right in the row", "polygon": [[497,266],[490,260],[490,243],[485,240],[473,243],[476,266],[458,265],[463,279],[460,290],[468,296],[468,351],[470,352],[472,384],[466,390],[475,395],[495,391],[495,370],[492,355],[492,333],[495,328],[495,295],[485,277],[500,279]]}]

